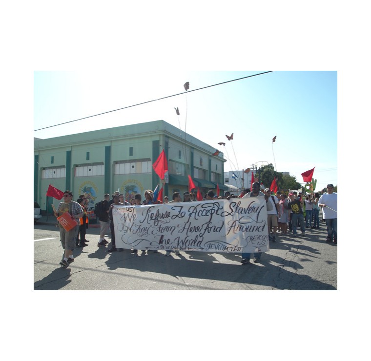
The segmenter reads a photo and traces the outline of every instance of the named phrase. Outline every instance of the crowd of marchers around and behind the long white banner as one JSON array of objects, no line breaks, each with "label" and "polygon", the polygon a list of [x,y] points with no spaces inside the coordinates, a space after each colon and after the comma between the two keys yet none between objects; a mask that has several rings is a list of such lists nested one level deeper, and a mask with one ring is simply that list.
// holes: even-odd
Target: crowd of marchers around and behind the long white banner
[{"label": "crowd of marchers around and behind the long white banner", "polygon": [[[217,196],[212,190],[207,191],[204,196],[204,201],[233,199],[233,198],[250,198],[264,197],[267,204],[267,223],[269,230],[269,241],[276,242],[278,236],[289,236],[292,233],[292,238],[297,238],[297,231],[300,229],[301,236],[306,237],[306,230],[310,228],[320,228],[321,222],[326,224],[327,239],[326,242],[337,244],[337,193],[334,192],[333,184],[327,185],[327,193],[319,195],[319,193],[290,192],[288,195],[281,192],[272,194],[269,188],[261,189],[259,182],[254,182],[251,185],[251,190],[244,189],[240,195],[235,196],[230,192],[225,192],[224,196]],[[76,221],[72,229],[66,230],[62,224],[58,223],[60,229],[60,239],[64,250],[62,261],[60,264],[67,267],[74,262],[73,250],[76,247],[86,247],[89,242],[86,240],[86,230],[89,226],[88,221],[88,199],[84,194],[80,195],[77,201],[73,201],[73,194],[66,190],[63,194],[63,201],[59,203],[54,215],[60,217],[64,212],[68,212],[71,218]],[[196,195],[192,192],[184,192],[183,197],[180,192],[174,192],[172,199],[164,197],[164,203],[173,202],[192,202],[197,201]],[[109,242],[105,236],[110,234],[111,245],[107,252],[123,251],[116,248],[115,232],[113,224],[113,207],[115,205],[131,205],[141,206],[147,204],[159,204],[162,201],[156,200],[152,190],[144,192],[144,198],[140,194],[136,194],[131,202],[124,200],[124,195],[120,192],[114,192],[111,196],[105,194],[103,200],[96,203],[94,213],[99,220],[100,238],[98,247],[106,247]],[[320,220],[320,209],[322,208],[322,219]],[[145,252],[145,250],[142,250]],[[147,251],[150,252],[150,251]],[[151,251],[157,253],[158,251]],[[175,250],[175,255],[180,256],[179,250]],[[138,253],[137,249],[131,250],[132,254]],[[170,256],[171,251],[166,251],[165,256]],[[253,261],[258,263],[261,261],[262,252],[253,253]],[[251,254],[242,253],[241,263],[250,262]]]}]

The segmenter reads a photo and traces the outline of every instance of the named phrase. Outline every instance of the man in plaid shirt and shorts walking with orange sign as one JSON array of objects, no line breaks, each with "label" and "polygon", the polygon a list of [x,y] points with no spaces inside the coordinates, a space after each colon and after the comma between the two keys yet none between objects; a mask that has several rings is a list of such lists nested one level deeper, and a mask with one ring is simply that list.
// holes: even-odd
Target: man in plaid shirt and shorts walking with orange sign
[{"label": "man in plaid shirt and shorts walking with orange sign", "polygon": [[[57,210],[54,211],[54,216],[60,218],[62,215],[70,216],[73,224],[66,224],[58,221],[62,248],[64,249],[64,258],[59,262],[62,266],[67,267],[71,262],[75,261],[72,251],[75,249],[75,240],[79,231],[79,220],[84,214],[82,206],[75,201],[72,201],[73,194],[71,191],[63,193],[63,202],[59,203]],[[74,221],[74,222],[73,222]]]}]

